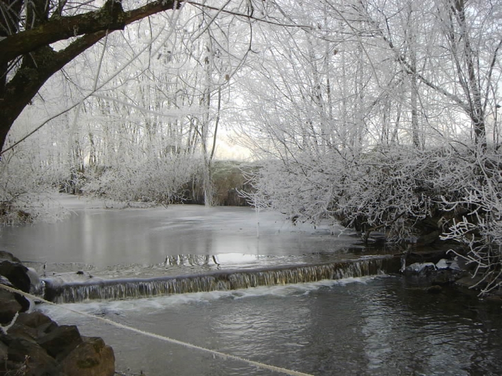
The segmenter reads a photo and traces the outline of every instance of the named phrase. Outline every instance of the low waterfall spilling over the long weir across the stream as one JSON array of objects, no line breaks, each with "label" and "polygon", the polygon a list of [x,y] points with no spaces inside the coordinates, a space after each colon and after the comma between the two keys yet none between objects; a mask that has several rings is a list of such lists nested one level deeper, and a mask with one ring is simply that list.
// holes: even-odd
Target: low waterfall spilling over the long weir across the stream
[{"label": "low waterfall spilling over the long weir across the stream", "polygon": [[398,259],[392,256],[375,256],[317,265],[245,269],[176,277],[91,280],[85,283],[66,283],[63,285],[45,280],[45,298],[60,303],[94,299],[149,298],[168,294],[247,289],[249,287],[316,282],[323,279],[372,276],[397,272],[398,269]]}]

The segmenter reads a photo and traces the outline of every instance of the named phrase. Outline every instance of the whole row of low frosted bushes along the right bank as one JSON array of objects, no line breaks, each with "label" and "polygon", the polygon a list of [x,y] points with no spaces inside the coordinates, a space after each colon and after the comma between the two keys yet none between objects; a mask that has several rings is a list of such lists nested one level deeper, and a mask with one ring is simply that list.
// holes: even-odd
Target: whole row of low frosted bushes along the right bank
[{"label": "whole row of low frosted bushes along the right bank", "polygon": [[292,219],[338,221],[362,239],[385,232],[395,243],[462,244],[485,290],[500,285],[502,155],[474,148],[374,148],[347,157],[305,153],[263,162],[250,181],[255,206]]}]

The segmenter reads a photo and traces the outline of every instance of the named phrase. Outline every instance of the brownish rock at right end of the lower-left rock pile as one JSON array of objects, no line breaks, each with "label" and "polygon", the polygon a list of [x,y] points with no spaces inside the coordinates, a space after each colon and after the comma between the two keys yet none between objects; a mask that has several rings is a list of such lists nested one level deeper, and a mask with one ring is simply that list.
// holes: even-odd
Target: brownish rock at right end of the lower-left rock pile
[{"label": "brownish rock at right end of the lower-left rock pile", "polygon": [[115,355],[101,338],[85,338],[61,362],[61,371],[67,376],[113,376]]}]

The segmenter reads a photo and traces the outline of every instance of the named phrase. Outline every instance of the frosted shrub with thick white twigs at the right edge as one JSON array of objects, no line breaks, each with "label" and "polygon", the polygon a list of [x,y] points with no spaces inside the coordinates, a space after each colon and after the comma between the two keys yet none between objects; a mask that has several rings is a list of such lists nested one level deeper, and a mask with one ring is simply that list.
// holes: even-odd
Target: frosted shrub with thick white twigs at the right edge
[{"label": "frosted shrub with thick white twigs at the right edge", "polygon": [[455,213],[441,239],[466,247],[461,254],[479,276],[481,294],[501,285],[502,155],[498,150],[464,155],[455,180],[457,195],[441,197],[445,212]]}]

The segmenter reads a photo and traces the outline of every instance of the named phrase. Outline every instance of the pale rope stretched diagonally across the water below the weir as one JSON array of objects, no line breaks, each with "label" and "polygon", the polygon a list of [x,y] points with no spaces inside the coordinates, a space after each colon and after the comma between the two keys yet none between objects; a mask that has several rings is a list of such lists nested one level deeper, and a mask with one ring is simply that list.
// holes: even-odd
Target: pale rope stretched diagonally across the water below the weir
[{"label": "pale rope stretched diagonally across the water below the weir", "polygon": [[202,351],[202,352],[205,352],[205,353],[210,353],[212,355],[220,357],[223,360],[228,360],[228,359],[237,360],[239,362],[247,363],[247,364],[250,364],[252,366],[256,366],[258,368],[267,369],[267,370],[270,370],[270,371],[280,372],[280,373],[283,373],[285,375],[291,375],[291,376],[314,376],[314,375],[310,375],[309,373],[303,373],[303,372],[299,372],[299,371],[290,370],[290,369],[287,369],[287,368],[272,366],[270,364],[265,364],[265,363],[261,363],[261,362],[255,362],[254,360],[249,360],[249,359],[245,359],[243,357],[238,357],[236,355],[231,355],[231,354],[221,353],[220,351],[206,349],[205,347],[197,346],[195,344],[190,344],[188,342],[183,342],[183,341],[175,340],[174,338],[169,338],[169,337],[166,337],[164,335],[158,335],[158,334],[151,333],[151,332],[148,332],[148,331],[142,331],[140,329],[136,329],[136,328],[133,328],[133,327],[128,327],[127,325],[120,324],[118,322],[115,322],[113,320],[109,320],[107,318],[102,318],[102,317],[94,316],[94,315],[91,315],[89,313],[77,311],[76,309],[71,309],[71,308],[68,308],[68,307],[65,307],[65,306],[62,306],[62,305],[57,305],[57,304],[55,304],[53,302],[50,302],[50,301],[45,300],[43,298],[40,298],[39,296],[34,296],[32,294],[25,293],[25,292],[23,292],[21,290],[14,289],[14,288],[6,286],[6,285],[0,285],[0,287],[3,288],[3,289],[8,290],[10,292],[13,292],[13,293],[21,294],[22,296],[25,296],[25,298],[30,298],[32,300],[38,300],[40,302],[44,302],[45,304],[53,305],[55,307],[59,307],[61,309],[65,309],[67,311],[70,311],[70,312],[73,312],[73,313],[77,313],[78,315],[82,315],[82,316],[86,316],[88,318],[93,318],[95,320],[100,320],[102,322],[106,322],[107,324],[111,324],[114,327],[118,327],[118,328],[121,328],[121,329],[126,329],[128,331],[133,331],[134,333],[139,333],[141,335],[145,335],[146,337],[156,338],[157,340],[162,340],[164,342],[170,342],[172,344],[177,344],[179,346],[184,346],[184,347],[186,347],[188,349],[195,349],[195,350]]}]

